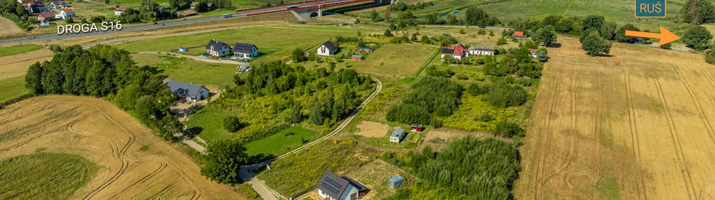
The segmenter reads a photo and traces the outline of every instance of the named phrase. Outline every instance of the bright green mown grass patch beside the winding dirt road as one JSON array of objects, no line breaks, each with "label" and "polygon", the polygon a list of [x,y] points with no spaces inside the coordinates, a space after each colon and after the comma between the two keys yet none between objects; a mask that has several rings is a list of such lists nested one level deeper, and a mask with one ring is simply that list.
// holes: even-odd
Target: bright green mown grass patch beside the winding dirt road
[{"label": "bright green mown grass patch beside the winding dirt road", "polygon": [[272,136],[268,136],[265,139],[260,139],[257,141],[252,141],[246,145],[246,153],[249,156],[257,154],[266,155],[279,155],[282,152],[290,151],[297,146],[303,144],[302,140],[305,139],[307,142],[317,136],[317,132],[310,129],[305,129],[300,126],[293,126],[287,129],[283,129]]}]

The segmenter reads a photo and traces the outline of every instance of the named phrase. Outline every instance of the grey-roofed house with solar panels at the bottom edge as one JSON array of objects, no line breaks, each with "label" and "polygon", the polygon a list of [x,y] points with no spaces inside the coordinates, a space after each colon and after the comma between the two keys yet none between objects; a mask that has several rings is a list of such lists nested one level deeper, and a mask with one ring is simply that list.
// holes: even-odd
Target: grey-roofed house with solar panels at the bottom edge
[{"label": "grey-roofed house with solar panels at the bottom edge", "polygon": [[330,170],[325,170],[317,184],[317,194],[325,200],[361,199],[368,188],[345,176],[337,176]]}]

